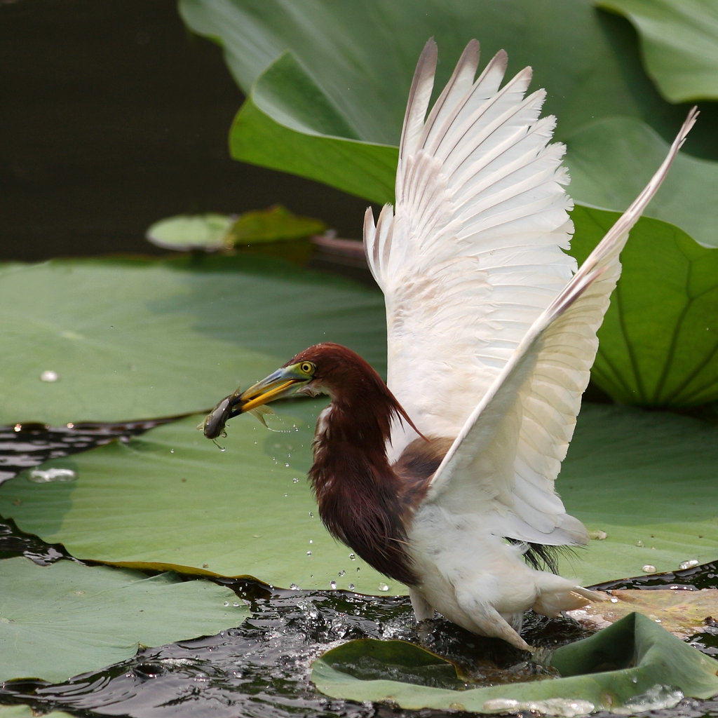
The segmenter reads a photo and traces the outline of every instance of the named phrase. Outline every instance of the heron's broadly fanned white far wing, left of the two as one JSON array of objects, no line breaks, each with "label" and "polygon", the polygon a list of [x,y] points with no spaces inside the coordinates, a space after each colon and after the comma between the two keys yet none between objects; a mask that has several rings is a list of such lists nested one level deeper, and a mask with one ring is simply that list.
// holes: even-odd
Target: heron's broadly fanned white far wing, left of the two
[{"label": "heron's broadly fanned white far wing, left of the two", "polygon": [[[564,147],[539,119],[531,68],[500,87],[499,52],[475,80],[467,45],[429,116],[437,50],[411,85],[396,208],[365,217],[368,263],[386,301],[388,386],[419,430],[457,436],[541,312],[571,279]],[[396,457],[412,438],[396,426]]]}]

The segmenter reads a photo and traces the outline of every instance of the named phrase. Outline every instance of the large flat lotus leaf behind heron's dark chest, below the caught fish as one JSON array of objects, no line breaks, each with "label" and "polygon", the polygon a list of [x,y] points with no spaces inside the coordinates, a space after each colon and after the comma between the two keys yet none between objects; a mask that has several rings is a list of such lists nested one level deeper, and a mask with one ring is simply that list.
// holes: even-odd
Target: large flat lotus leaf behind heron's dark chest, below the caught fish
[{"label": "large flat lotus leaf behind heron's dark chest, below the caught fish", "polygon": [[[80,559],[402,593],[334,541],[317,516],[305,475],[322,406],[277,404],[269,431],[249,416],[233,419],[224,451],[192,416],[128,444],[48,462],[0,487],[0,514]],[[640,575],[649,564],[671,571],[715,560],[717,465],[717,427],[584,406],[558,488],[569,513],[607,537],[568,556],[561,571],[592,584]]]}]

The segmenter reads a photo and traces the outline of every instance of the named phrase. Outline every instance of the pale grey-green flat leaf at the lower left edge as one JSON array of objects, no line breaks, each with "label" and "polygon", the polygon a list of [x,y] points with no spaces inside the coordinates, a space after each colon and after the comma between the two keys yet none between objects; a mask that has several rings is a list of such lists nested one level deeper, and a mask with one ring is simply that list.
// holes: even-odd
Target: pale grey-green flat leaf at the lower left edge
[{"label": "pale grey-green flat leaf at the lower left edge", "polygon": [[248,615],[230,589],[169,574],[17,557],[0,561],[0,576],[0,683],[63,681],[131,658],[141,645],[213,635]]}]

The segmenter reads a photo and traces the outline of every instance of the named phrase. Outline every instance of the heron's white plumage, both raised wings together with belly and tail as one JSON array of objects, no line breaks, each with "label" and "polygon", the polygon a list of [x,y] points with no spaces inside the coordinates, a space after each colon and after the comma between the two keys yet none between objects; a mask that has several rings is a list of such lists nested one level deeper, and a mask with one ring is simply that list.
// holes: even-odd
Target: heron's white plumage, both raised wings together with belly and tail
[{"label": "heron's white plumage, both raised wings together with belly and tail", "polygon": [[[573,227],[564,148],[548,144],[543,90],[524,97],[526,68],[500,88],[502,51],[474,80],[470,42],[426,116],[437,52],[424,48],[411,85],[396,209],[368,210],[368,264],[386,302],[388,386],[419,431],[456,437],[409,527],[419,619],[434,609],[468,630],[528,648],[528,607],[546,615],[600,598],[538,572],[521,545],[580,544],[554,482],[574,432],[620,275],[630,228],[665,177],[691,111],[651,182],[582,267],[563,249]],[[574,274],[575,271],[575,274]],[[416,436],[393,426],[391,456]]]}]

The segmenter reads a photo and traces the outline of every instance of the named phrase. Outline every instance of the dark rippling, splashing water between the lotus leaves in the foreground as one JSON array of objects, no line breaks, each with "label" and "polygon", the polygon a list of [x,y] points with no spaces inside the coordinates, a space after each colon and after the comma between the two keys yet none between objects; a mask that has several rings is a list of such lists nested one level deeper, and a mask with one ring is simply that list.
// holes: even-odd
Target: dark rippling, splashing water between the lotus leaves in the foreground
[{"label": "dark rippling, splashing water between the lotus leaves in the foreground", "polygon": [[[83,451],[116,437],[127,440],[149,426],[85,424],[47,430],[43,426],[0,429],[0,480],[50,457]],[[62,546],[49,546],[0,519],[0,557],[24,555],[47,564],[69,560]],[[82,716],[217,716],[284,718],[438,717],[438,711],[401,711],[379,704],[328,699],[309,680],[314,658],[344,640],[404,638],[419,640],[406,597],[365,597],[348,592],[269,589],[251,581],[226,580],[248,602],[251,617],[238,628],[161,648],[148,648],[134,658],[98,673],[62,684],[17,681],[0,689],[0,703],[27,704],[40,712],[62,709]],[[605,587],[661,589],[718,586],[718,564],[707,564],[659,577],[642,577]],[[529,616],[529,643],[555,646],[584,637],[586,631],[569,619]],[[470,635],[445,621],[434,623],[421,642],[449,656],[485,683],[528,680],[536,666],[504,643]],[[718,630],[691,643],[718,658]],[[653,711],[661,718],[718,718],[718,700],[683,701],[670,710]],[[598,714],[601,715],[601,714]]]}]

